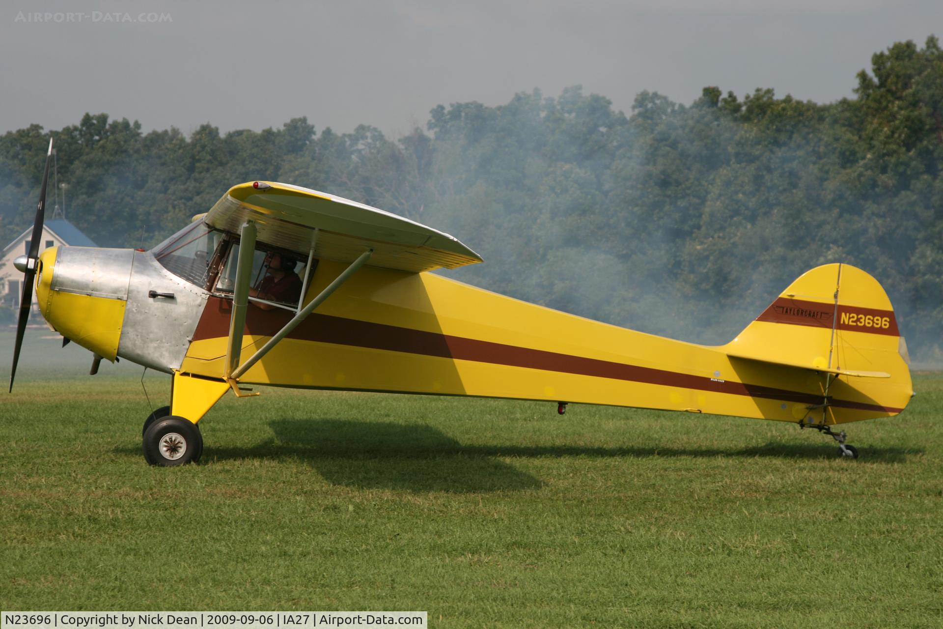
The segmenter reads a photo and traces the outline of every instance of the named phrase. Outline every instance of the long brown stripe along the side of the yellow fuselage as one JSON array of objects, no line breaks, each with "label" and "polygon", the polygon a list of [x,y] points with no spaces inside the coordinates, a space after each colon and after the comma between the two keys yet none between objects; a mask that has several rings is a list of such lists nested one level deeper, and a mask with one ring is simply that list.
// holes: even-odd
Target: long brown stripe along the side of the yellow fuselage
[{"label": "long brown stripe along the side of the yellow fuselage", "polygon": [[[196,331],[193,333],[193,340],[216,339],[228,336],[231,310],[229,300],[210,297],[207,300],[207,307],[203,311],[203,316],[200,318],[200,323],[197,324]],[[245,335],[271,337],[290,319],[291,314],[287,310],[262,310],[250,306],[246,315],[243,333]],[[386,323],[345,319],[316,312],[308,315],[304,322],[291,331],[288,338],[404,352],[421,356],[472,360],[549,372],[613,378],[682,389],[747,395],[754,398],[782,400],[810,406],[819,405],[822,402],[820,395],[800,391],[761,387],[689,373],[669,372],[598,358],[571,356],[516,345],[505,345],[489,340],[467,339],[438,332],[425,332]],[[833,400],[831,404],[832,406],[844,408],[888,413],[899,413],[902,410],[901,408],[842,400]]]}]

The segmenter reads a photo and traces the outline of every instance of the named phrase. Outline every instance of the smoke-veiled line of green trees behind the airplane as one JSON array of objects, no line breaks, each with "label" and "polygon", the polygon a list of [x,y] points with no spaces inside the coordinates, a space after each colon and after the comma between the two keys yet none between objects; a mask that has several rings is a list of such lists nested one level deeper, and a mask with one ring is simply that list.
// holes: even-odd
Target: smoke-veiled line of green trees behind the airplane
[{"label": "smoke-veiled line of green trees behind the airplane", "polygon": [[[0,137],[0,241],[32,221],[50,131]],[[462,281],[654,334],[733,338],[799,274],[847,262],[888,291],[911,353],[943,357],[943,51],[894,43],[826,104],[579,87],[439,105],[398,139],[306,118],[221,134],[85,114],[51,131],[67,218],[103,246],[151,246],[230,186],[294,183],[453,234]],[[59,203],[61,200],[58,199]],[[53,203],[48,207],[52,208]]]}]

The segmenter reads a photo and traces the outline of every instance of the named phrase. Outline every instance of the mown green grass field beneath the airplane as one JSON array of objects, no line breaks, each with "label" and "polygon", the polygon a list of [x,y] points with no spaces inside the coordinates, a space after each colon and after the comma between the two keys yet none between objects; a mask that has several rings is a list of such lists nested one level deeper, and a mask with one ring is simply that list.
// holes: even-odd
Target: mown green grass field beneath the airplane
[{"label": "mown green grass field beneath the airplane", "polygon": [[[265,389],[210,411],[203,463],[157,469],[140,369],[81,375],[88,353],[38,334],[0,396],[4,609],[943,623],[940,373],[900,418],[848,427],[856,461],[778,422]],[[166,376],[145,382],[166,404]]]}]

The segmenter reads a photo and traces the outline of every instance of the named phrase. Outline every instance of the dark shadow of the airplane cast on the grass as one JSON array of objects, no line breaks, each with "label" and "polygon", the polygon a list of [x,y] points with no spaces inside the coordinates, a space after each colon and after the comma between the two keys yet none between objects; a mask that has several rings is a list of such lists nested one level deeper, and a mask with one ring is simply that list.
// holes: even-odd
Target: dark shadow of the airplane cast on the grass
[{"label": "dark shadow of the airplane cast on the grass", "polygon": [[[273,439],[248,448],[216,446],[205,461],[296,457],[325,480],[356,488],[456,493],[541,488],[543,482],[500,460],[531,457],[736,456],[817,459],[835,457],[828,443],[769,441],[740,449],[569,445],[465,445],[426,424],[285,419],[269,423]],[[902,462],[921,451],[869,447],[855,465]],[[631,461],[626,461],[631,464]]]}]

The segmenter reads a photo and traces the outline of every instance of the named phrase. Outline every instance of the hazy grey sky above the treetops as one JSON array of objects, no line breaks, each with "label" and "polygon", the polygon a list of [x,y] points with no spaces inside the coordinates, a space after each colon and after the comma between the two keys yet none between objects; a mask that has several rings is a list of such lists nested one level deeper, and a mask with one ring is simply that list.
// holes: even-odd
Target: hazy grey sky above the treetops
[{"label": "hazy grey sky above the treetops", "polygon": [[826,102],[874,52],[934,32],[943,0],[5,0],[0,132],[91,111],[398,135],[438,104],[576,84],[626,112],[638,91],[687,104],[706,85]]}]

